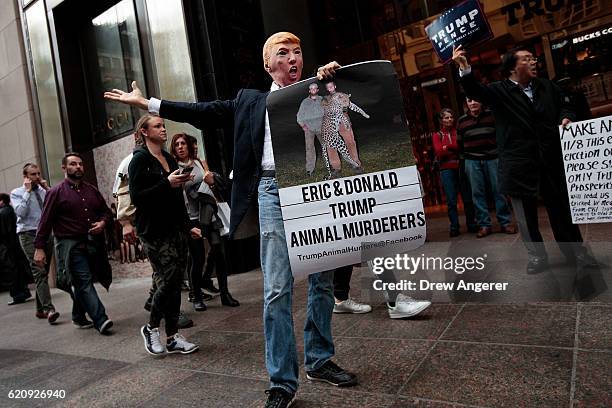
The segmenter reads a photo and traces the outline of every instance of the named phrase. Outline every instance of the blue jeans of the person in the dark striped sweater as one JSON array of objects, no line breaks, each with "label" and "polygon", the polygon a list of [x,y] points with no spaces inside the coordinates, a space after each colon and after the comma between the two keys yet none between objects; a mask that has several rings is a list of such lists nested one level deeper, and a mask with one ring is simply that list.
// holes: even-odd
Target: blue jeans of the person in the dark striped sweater
[{"label": "blue jeans of the person in the dark striped sweater", "polygon": [[487,205],[487,184],[495,199],[495,214],[499,225],[505,227],[512,222],[508,202],[497,188],[497,159],[465,160],[465,172],[472,185],[472,200],[476,208],[476,222],[480,228],[491,227]]}]

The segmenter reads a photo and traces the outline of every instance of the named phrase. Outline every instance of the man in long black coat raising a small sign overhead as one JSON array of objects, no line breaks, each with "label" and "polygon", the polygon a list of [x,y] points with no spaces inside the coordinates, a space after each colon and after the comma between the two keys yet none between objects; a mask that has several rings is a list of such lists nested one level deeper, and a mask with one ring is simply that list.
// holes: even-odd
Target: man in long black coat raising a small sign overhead
[{"label": "man in long black coat raising a small sign overhead", "polygon": [[590,263],[577,225],[572,223],[558,126],[575,120],[553,82],[537,77],[537,59],[525,49],[513,49],[502,57],[506,79],[481,84],[461,46],[453,50],[461,85],[469,98],[491,107],[497,129],[499,184],[510,196],[521,238],[529,253],[527,273],[548,266],[538,228],[538,194],[561,251],[570,261]]}]

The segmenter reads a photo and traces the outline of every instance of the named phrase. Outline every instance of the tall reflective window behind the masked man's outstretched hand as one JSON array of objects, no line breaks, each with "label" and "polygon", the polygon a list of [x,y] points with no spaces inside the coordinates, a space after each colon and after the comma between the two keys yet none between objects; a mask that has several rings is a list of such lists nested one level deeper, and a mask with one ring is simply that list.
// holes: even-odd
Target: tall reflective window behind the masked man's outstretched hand
[{"label": "tall reflective window behind the masked man's outstretched hand", "polygon": [[132,0],[122,0],[91,20],[83,51],[92,134],[96,145],[130,132],[138,119],[135,108],[105,101],[108,89],[131,89],[136,81],[144,90],[144,75],[136,13]]}]

